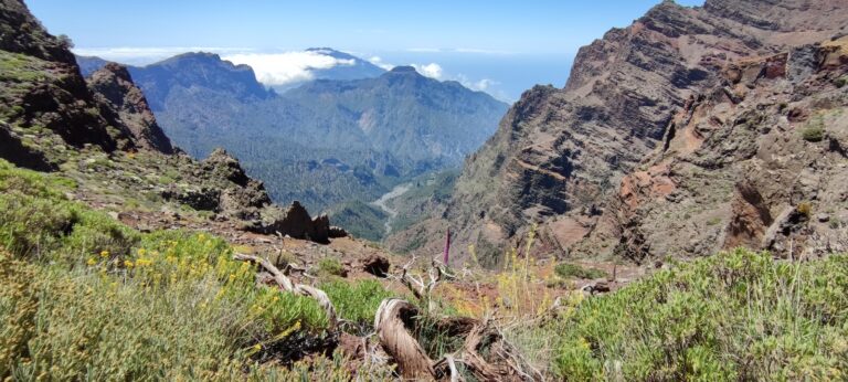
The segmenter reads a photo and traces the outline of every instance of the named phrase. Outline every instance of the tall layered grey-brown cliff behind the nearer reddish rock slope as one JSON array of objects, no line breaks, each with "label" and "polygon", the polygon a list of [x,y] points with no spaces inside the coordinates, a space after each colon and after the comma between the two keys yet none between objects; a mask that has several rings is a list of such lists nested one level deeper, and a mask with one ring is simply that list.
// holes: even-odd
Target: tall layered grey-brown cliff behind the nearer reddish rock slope
[{"label": "tall layered grey-brown cliff behind the nearer reddish rock slope", "polygon": [[[687,99],[724,81],[732,62],[838,33],[846,7],[836,6],[664,2],[633,25],[611,30],[580,50],[564,88],[526,92],[466,162],[441,216],[392,244],[410,248],[449,224],[458,243],[496,254],[531,223],[545,223],[542,241],[566,250],[593,230],[622,178],[661,145]],[[425,247],[435,251],[438,241]]]}]

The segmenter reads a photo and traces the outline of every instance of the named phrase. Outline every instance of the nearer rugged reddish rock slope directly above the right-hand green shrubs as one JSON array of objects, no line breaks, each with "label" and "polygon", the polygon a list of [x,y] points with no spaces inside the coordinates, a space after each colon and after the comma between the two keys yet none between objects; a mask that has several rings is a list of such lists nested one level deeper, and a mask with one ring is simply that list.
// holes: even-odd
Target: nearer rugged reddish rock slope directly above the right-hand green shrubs
[{"label": "nearer rugged reddish rock slope directly above the right-hand green shrubs", "polygon": [[[639,262],[735,246],[796,258],[848,250],[848,158],[830,144],[848,134],[848,88],[837,81],[848,64],[826,65],[839,61],[834,52],[848,55],[845,46],[848,38],[729,64],[728,76],[687,104],[640,166],[668,171],[625,177],[602,216],[612,223],[573,250],[615,248]],[[810,56],[818,57],[813,67]],[[826,138],[813,139],[819,129]],[[630,191],[639,182],[670,182],[676,191]],[[823,213],[828,219],[813,219]]]}]

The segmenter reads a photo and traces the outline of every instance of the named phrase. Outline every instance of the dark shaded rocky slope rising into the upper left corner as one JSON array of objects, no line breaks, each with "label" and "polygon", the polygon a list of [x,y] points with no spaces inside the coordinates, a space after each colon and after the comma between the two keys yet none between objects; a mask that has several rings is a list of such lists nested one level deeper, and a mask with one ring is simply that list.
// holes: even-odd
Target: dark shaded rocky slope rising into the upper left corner
[{"label": "dark shaded rocky slope rising into the upper left corner", "polygon": [[66,41],[47,34],[19,1],[2,3],[0,29],[0,129],[6,138],[0,147],[12,162],[55,169],[56,158],[32,148],[33,137],[42,134],[55,134],[77,148],[132,147],[129,131],[98,113]]}]

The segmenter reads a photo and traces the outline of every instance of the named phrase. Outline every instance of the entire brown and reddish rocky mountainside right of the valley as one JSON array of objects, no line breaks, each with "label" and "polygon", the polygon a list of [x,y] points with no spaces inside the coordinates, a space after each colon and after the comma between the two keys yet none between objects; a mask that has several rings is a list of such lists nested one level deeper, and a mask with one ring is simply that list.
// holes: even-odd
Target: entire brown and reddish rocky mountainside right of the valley
[{"label": "entire brown and reddish rocky mountainside right of the valley", "polygon": [[[814,190],[823,197],[839,193],[834,191],[839,184],[813,180],[841,171],[839,150],[804,140],[799,130],[805,123],[788,113],[797,108],[794,113],[802,113],[804,120],[817,118],[828,137],[845,131],[845,121],[829,115],[845,105],[844,89],[836,88],[844,66],[838,53],[823,53],[838,52],[825,46],[840,44],[847,28],[845,6],[710,0],[686,8],[662,2],[633,25],[613,29],[582,47],[564,88],[537,86],[526,92],[496,135],[466,161],[451,202],[436,210],[434,219],[396,234],[392,245],[430,243],[433,251],[439,244],[421,237],[451,225],[457,242],[475,244],[497,262],[499,248],[520,242],[533,224],[558,256],[642,259],[760,244],[759,237],[724,234],[742,224],[732,216],[744,212],[731,204],[734,192],[745,192],[734,190],[745,190],[745,184],[736,184],[752,181],[751,171],[786,171],[780,181],[771,178],[776,172],[763,173],[785,197],[761,193],[767,201],[755,204],[767,205],[772,217],[756,223],[764,227],[755,231],[776,230],[773,223],[784,224],[777,216],[803,200],[813,201]],[[704,103],[721,110],[716,118],[704,117],[710,113],[697,106]],[[678,128],[683,120],[699,127]],[[688,146],[676,148],[680,145]],[[699,159],[686,159],[691,156]],[[687,162],[687,170],[672,162]],[[781,163],[780,170],[774,163]],[[803,174],[806,193],[788,197],[785,190],[802,181],[789,173]],[[678,177],[687,178],[690,192],[680,190]],[[645,192],[667,197],[659,202],[655,195],[650,206],[644,206],[636,199]],[[813,204],[816,212],[845,209],[839,197]],[[830,224],[812,222],[827,230]],[[616,229],[600,230],[603,226]],[[643,230],[651,234],[645,236]],[[621,243],[613,232],[623,233]],[[580,244],[586,236],[606,240]],[[797,250],[802,244],[795,245]]]}]

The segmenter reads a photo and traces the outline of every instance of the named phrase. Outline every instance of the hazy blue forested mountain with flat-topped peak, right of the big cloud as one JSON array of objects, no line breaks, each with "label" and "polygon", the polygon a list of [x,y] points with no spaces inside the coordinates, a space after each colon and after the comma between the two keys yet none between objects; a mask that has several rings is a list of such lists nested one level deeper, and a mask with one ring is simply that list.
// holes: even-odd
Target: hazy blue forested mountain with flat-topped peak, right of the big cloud
[{"label": "hazy blue forested mountain with flat-topped peak, right of the big cloud", "polygon": [[[343,138],[362,136],[370,149],[434,168],[459,163],[491,136],[506,112],[505,104],[485,93],[427,78],[411,66],[378,78],[319,79],[282,97],[327,119],[348,118],[354,125],[344,126]],[[336,146],[331,137],[309,144],[320,141]]]}]

